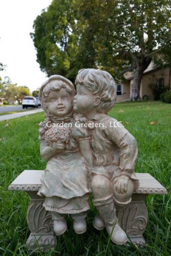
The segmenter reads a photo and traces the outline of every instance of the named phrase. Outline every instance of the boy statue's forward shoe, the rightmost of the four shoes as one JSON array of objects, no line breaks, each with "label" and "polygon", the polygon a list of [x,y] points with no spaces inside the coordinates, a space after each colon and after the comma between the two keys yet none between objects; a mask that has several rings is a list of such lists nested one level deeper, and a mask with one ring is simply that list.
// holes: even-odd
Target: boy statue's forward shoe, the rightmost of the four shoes
[{"label": "boy statue's forward shoe, the rightmost of the four shoes", "polygon": [[[106,226],[106,229],[108,231],[108,234],[110,235],[112,232],[113,227],[111,226]],[[122,245],[122,244],[126,244],[127,242],[127,234],[125,233],[125,231],[123,229],[120,228],[119,224],[116,223],[112,236],[111,236],[111,240],[112,242]]]}]

